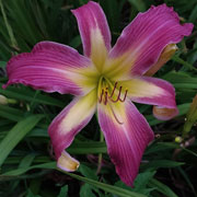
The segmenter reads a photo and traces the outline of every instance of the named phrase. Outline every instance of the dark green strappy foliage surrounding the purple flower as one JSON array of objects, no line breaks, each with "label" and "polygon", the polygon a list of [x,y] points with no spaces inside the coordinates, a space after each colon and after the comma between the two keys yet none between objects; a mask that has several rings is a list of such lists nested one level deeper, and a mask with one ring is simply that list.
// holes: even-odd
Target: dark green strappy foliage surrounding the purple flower
[{"label": "dark green strappy foliage surrounding the purple flower", "polygon": [[[31,51],[40,40],[70,45],[82,53],[74,16],[88,0],[0,0],[0,86],[8,80],[5,63],[11,56]],[[100,141],[96,118],[77,136],[69,152],[79,159],[76,174],[56,170],[47,127],[66,106],[70,95],[47,94],[23,85],[0,88],[9,99],[0,105],[0,196],[1,197],[197,197],[197,126],[186,114],[197,92],[197,1],[196,0],[100,0],[113,36],[151,4],[173,5],[184,22],[195,24],[192,36],[178,44],[179,50],[155,77],[176,89],[179,115],[170,121],[152,116],[152,106],[137,105],[155,132],[135,182],[125,186],[115,173]],[[193,127],[192,127],[193,126]],[[181,137],[183,141],[178,141]],[[175,142],[175,139],[177,142]],[[97,157],[103,166],[96,175]]]}]

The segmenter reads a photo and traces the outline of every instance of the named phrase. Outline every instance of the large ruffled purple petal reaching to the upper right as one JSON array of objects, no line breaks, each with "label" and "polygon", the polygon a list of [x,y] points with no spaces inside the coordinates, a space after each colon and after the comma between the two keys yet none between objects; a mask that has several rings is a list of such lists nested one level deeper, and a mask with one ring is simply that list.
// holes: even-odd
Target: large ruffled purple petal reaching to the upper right
[{"label": "large ruffled purple petal reaching to the upper right", "polygon": [[177,13],[166,4],[152,5],[147,12],[139,13],[123,31],[109,54],[111,59],[121,59],[116,73],[121,70],[143,74],[169,44],[188,36],[193,26],[192,23],[181,24]]}]

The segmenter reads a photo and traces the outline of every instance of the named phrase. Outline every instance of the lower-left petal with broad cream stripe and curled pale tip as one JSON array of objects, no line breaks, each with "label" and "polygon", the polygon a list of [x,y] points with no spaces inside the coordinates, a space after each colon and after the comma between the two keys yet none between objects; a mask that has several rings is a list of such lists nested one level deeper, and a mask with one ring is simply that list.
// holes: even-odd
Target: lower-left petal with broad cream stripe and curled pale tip
[{"label": "lower-left petal with broad cream stripe and curled pale tip", "polygon": [[50,124],[48,132],[58,161],[58,166],[73,171],[79,163],[65,149],[74,136],[90,121],[96,108],[96,91],[83,97],[76,97]]}]

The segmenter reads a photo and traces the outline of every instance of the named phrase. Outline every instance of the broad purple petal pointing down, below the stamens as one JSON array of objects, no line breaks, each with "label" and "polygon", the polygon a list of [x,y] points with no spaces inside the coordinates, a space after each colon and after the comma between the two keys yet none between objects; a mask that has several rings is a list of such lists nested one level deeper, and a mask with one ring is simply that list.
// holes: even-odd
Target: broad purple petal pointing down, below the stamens
[{"label": "broad purple petal pointing down, below the stamens", "polygon": [[149,124],[128,100],[111,107],[99,104],[99,121],[117,174],[124,183],[132,186],[142,153],[153,140]]}]

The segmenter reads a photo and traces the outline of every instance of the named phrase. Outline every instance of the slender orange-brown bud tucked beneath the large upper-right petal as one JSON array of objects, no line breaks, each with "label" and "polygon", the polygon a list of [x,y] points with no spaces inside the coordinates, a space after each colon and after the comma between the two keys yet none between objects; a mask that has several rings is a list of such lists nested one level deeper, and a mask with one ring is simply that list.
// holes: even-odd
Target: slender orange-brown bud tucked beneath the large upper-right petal
[{"label": "slender orange-brown bud tucked beneath the large upper-right petal", "polygon": [[166,63],[172,56],[175,54],[177,50],[177,46],[175,44],[169,44],[163,51],[160,55],[160,58],[155,65],[153,65],[146,73],[144,76],[153,76],[160,68]]}]

